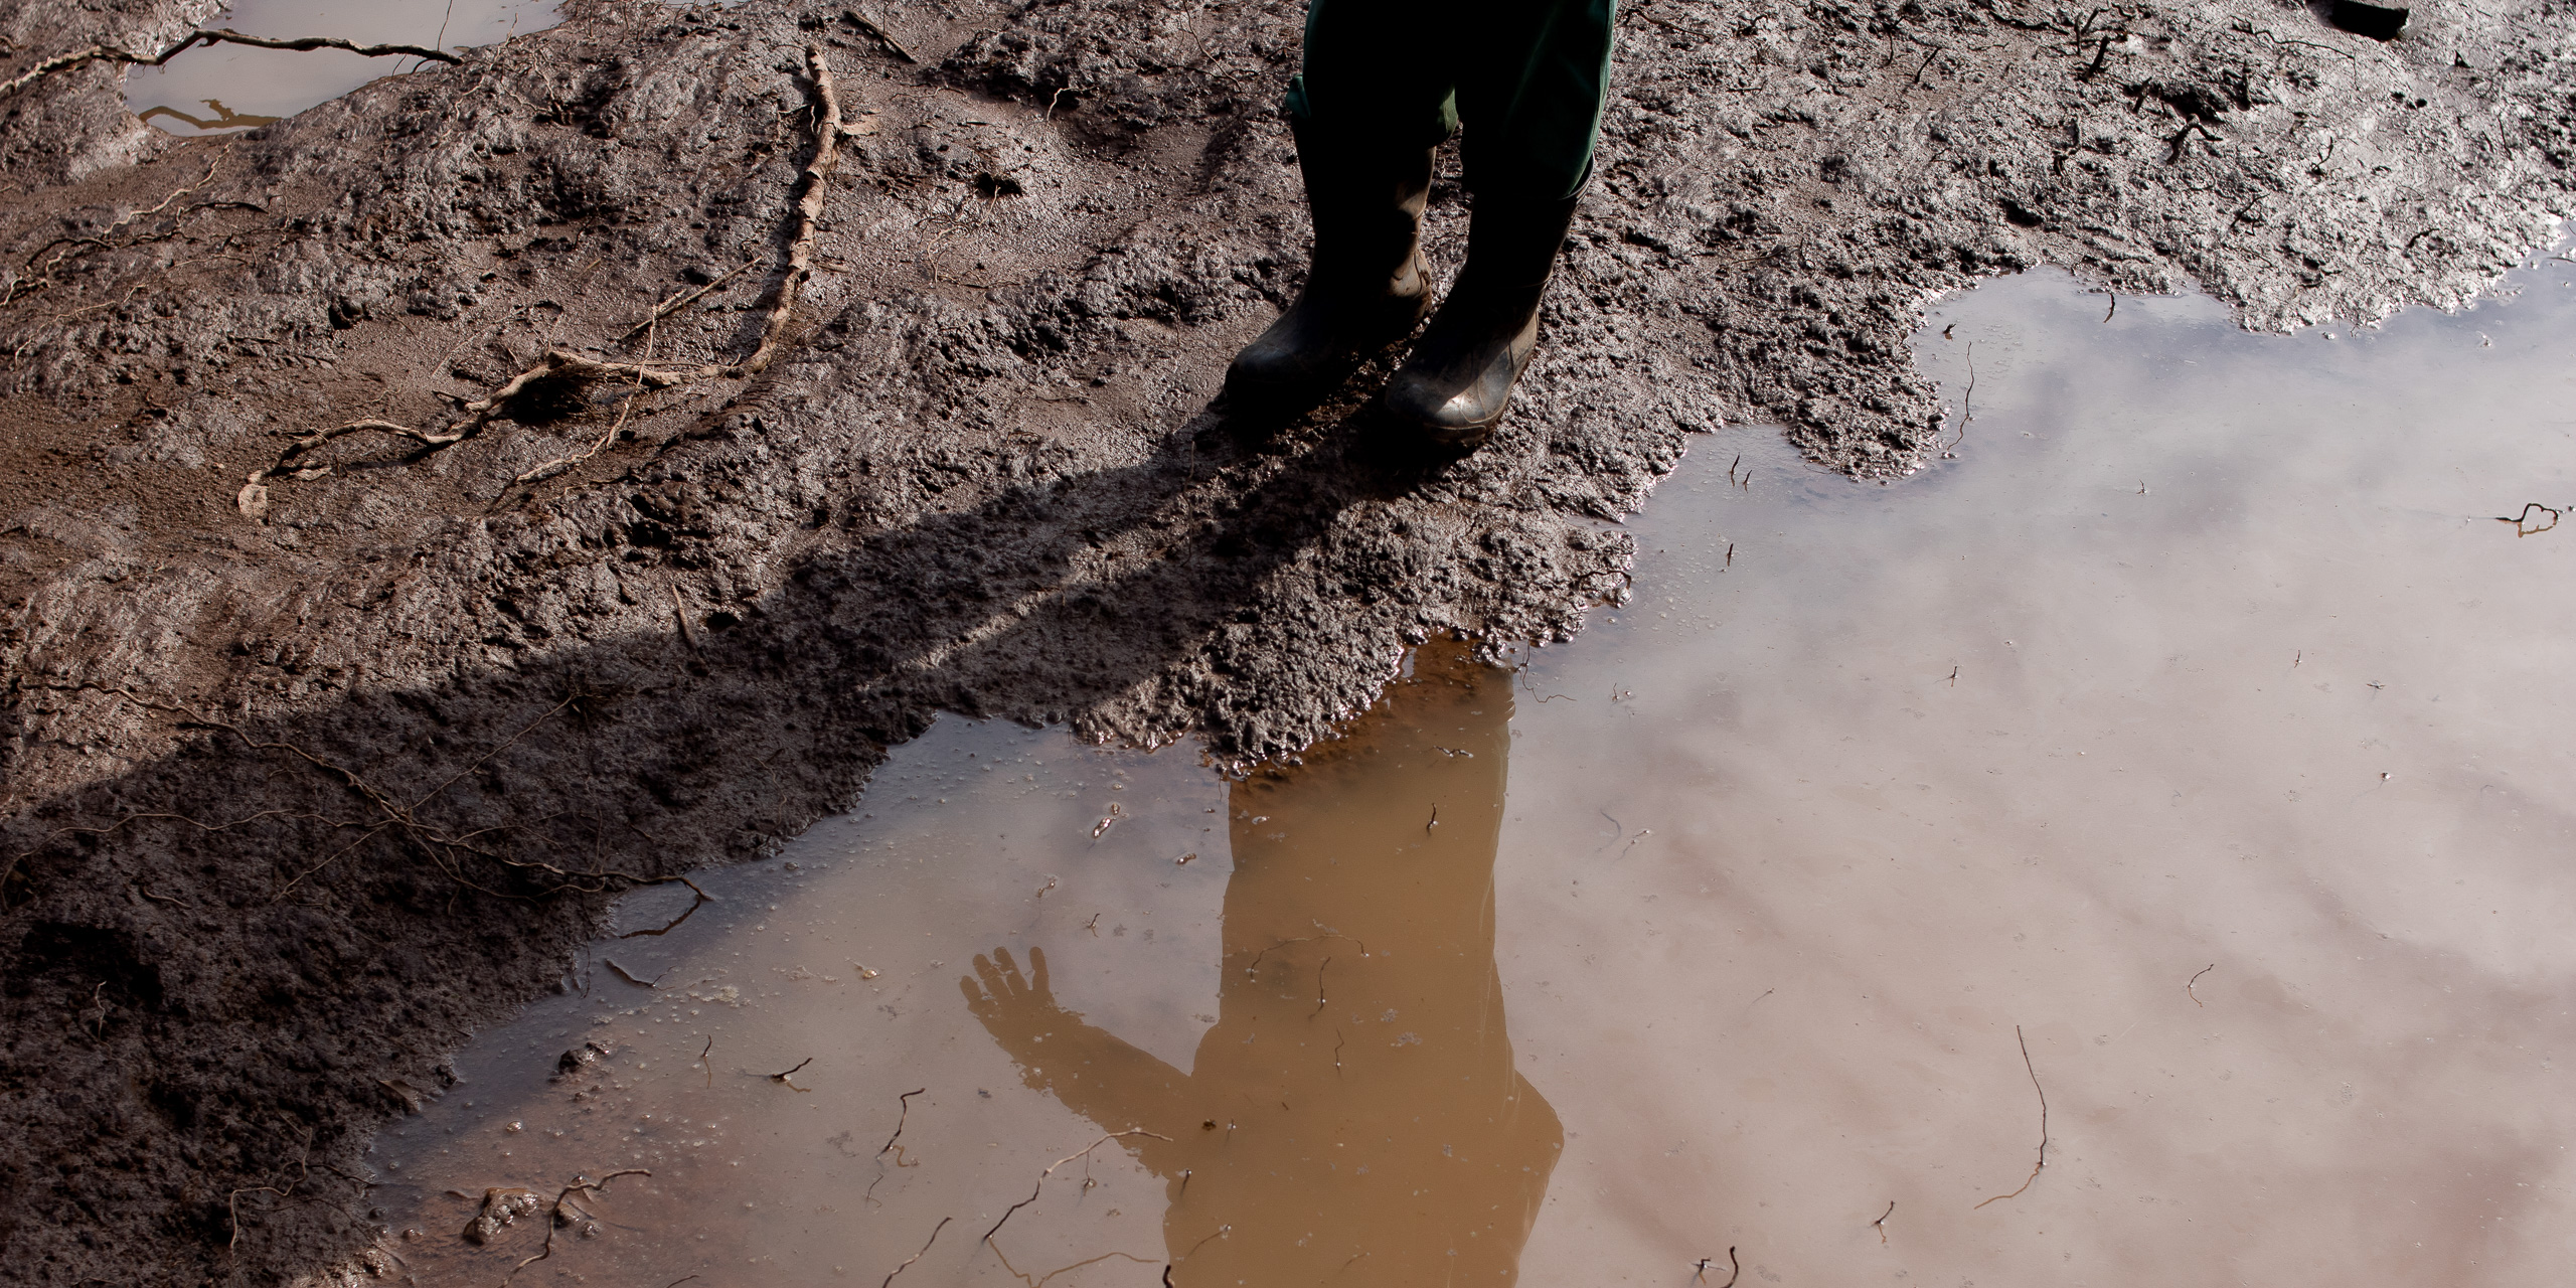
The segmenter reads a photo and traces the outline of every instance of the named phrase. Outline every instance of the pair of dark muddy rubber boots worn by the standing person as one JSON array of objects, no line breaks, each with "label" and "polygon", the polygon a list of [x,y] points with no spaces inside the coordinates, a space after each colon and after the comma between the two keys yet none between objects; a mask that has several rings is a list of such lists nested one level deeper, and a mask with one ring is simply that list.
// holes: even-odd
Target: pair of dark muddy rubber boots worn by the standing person
[{"label": "pair of dark muddy rubber boots worn by the standing person", "polygon": [[[1234,355],[1226,392],[1273,407],[1311,407],[1432,309],[1422,263],[1422,209],[1432,152],[1319,157],[1298,139],[1314,263],[1306,289]],[[1494,433],[1512,384],[1538,348],[1538,304],[1577,198],[1530,201],[1479,193],[1466,268],[1414,343],[1381,402],[1440,446],[1473,448]]]}]

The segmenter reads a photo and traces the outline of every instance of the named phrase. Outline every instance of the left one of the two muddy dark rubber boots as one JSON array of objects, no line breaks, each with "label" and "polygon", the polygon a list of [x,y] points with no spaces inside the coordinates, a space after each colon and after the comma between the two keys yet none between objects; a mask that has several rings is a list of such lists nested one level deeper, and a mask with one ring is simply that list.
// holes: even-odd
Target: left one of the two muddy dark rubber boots
[{"label": "left one of the two muddy dark rubber boots", "polygon": [[1306,289],[1226,368],[1229,399],[1255,412],[1303,412],[1352,371],[1412,335],[1432,304],[1422,263],[1422,206],[1432,152],[1329,155],[1298,131],[1298,170],[1314,211]]}]

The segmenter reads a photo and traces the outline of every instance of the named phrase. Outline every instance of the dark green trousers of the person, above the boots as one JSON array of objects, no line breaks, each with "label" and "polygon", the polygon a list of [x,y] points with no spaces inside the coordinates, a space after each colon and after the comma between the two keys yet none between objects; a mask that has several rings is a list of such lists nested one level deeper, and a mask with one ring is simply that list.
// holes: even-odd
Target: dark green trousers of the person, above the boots
[{"label": "dark green trousers of the person, above the boots", "polygon": [[1298,137],[1334,155],[1422,149],[1466,126],[1468,191],[1558,201],[1592,173],[1615,0],[1314,0]]}]

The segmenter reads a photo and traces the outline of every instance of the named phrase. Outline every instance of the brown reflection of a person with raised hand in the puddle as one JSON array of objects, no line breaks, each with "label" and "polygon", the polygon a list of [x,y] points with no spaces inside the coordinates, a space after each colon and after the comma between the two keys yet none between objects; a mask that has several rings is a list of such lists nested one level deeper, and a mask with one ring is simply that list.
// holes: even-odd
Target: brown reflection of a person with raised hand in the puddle
[{"label": "brown reflection of a person with raised hand in the puddle", "polygon": [[[1507,672],[1440,644],[1309,765],[1231,793],[1216,1028],[1185,1074],[1056,1005],[1043,951],[961,981],[1030,1087],[1164,1180],[1180,1285],[1512,1283],[1564,1131],[1494,971]],[[1043,1043],[1041,1043],[1043,1038]]]}]

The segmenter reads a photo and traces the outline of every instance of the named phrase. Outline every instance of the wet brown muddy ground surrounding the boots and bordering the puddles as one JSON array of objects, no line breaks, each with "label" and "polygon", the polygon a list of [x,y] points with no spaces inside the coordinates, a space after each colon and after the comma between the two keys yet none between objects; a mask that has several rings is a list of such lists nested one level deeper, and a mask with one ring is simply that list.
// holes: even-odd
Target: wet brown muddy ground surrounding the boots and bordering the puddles
[{"label": "wet brown muddy ground surrounding the boots and bordering the puddles", "polygon": [[[18,0],[0,64],[214,8]],[[2367,322],[2576,206],[2558,3],[2393,44],[2251,0],[1636,3],[1546,355],[1425,461],[1360,386],[1211,410],[1298,283],[1298,13],[574,0],[234,139],[98,62],[0,100],[0,1278],[386,1265],[358,1149],[562,987],[595,891],[796,835],[938,711],[1249,760],[1427,634],[1564,636],[1695,433],[1937,456],[1940,291],[2061,263]],[[350,435],[237,505],[294,435],[456,425],[546,348],[747,353],[806,46],[848,144],[786,358]],[[1445,180],[1443,263],[1461,214]]]}]

